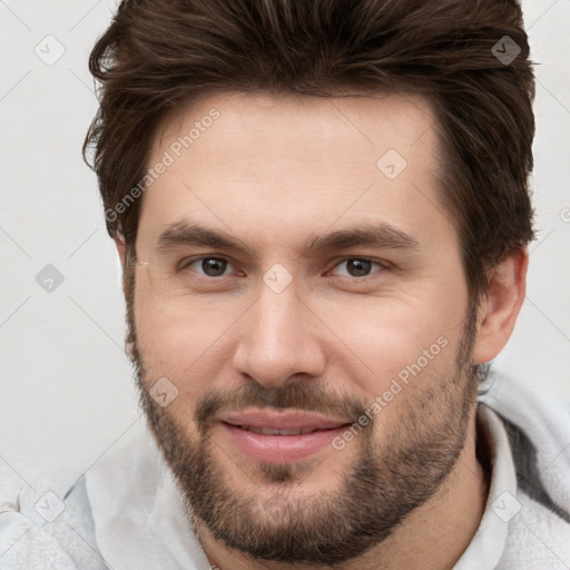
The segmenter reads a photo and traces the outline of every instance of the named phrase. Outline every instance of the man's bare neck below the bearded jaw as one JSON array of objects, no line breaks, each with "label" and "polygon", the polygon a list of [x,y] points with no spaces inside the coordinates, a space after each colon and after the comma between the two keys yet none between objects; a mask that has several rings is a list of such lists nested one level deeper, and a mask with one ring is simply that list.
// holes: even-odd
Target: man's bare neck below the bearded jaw
[{"label": "man's bare neck below the bearded jaw", "polygon": [[[489,482],[478,454],[484,445],[473,413],[465,446],[452,472],[439,491],[413,511],[381,544],[358,559],[337,566],[336,570],[424,570],[452,569],[473,539],[488,498]],[[315,566],[255,561],[243,552],[217,541],[198,521],[202,547],[212,564],[219,570],[315,570]]]}]

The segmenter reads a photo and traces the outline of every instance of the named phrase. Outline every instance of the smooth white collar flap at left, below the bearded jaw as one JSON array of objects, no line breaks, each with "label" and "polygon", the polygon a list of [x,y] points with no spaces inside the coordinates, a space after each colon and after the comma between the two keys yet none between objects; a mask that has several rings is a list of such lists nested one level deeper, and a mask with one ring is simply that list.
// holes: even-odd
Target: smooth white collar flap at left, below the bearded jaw
[{"label": "smooth white collar flap at left, below the bearded jaw", "polygon": [[140,431],[86,475],[97,544],[121,570],[209,568],[153,435]]}]

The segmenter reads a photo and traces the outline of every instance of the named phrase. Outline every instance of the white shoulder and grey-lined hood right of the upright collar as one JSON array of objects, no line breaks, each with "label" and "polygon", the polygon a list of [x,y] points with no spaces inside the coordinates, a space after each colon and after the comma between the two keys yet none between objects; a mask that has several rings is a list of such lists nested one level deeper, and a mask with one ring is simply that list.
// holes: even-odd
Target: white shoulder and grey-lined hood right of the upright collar
[{"label": "white shoulder and grey-lined hood right of the upright collar", "polygon": [[513,379],[480,399],[504,425],[519,509],[499,569],[563,569],[570,560],[570,405]]}]

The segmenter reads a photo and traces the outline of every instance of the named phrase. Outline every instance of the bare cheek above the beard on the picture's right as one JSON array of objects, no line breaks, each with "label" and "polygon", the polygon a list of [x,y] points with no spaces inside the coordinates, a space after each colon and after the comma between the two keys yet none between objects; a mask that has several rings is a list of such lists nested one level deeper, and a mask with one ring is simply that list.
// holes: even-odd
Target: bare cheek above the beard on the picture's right
[{"label": "bare cheek above the beard on the picture's right", "polygon": [[438,295],[436,288],[433,295],[422,293],[346,296],[315,311],[327,315],[327,326],[345,345],[347,361],[341,365],[354,363],[351,376],[371,402],[394,379],[429,379],[453,365],[466,296]]}]

